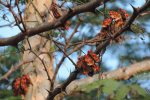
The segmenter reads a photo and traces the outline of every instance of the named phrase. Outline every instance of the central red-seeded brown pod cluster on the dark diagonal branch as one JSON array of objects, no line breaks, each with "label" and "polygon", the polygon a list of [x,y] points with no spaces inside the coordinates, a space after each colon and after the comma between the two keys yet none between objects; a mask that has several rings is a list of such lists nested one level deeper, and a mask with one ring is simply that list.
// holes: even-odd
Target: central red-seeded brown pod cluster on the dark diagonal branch
[{"label": "central red-seeded brown pod cluster on the dark diagonal branch", "polygon": [[99,57],[89,50],[87,55],[78,58],[77,69],[82,70],[84,75],[92,77],[95,71],[99,71],[99,67],[95,64],[98,61]]}]

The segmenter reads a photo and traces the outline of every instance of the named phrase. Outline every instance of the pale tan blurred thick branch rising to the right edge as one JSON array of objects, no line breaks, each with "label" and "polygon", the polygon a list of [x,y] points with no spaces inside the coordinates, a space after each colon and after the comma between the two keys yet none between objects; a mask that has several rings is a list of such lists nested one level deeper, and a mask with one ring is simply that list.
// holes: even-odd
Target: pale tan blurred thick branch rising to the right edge
[{"label": "pale tan blurred thick branch rising to the right edge", "polygon": [[[145,72],[145,71],[150,71],[150,60],[138,62],[138,63],[132,64],[128,67],[118,67],[116,70],[104,72],[101,76],[101,79],[117,79],[119,81],[127,80],[127,79],[130,79],[133,76],[137,75],[138,73]],[[77,76],[77,74],[75,74],[75,73],[77,73],[77,72],[71,73],[71,75],[65,82],[67,83],[67,82],[71,82],[71,80],[74,80],[71,77],[75,78],[75,76]],[[71,94],[72,92],[75,91],[75,89],[78,86],[80,86],[82,84],[90,84],[94,81],[98,81],[99,80],[98,76],[99,76],[99,74],[96,74],[93,77],[87,77],[84,79],[72,81],[66,87],[67,94]],[[62,87],[64,85],[65,85],[65,83],[62,84]],[[65,87],[63,87],[63,88],[65,89]],[[56,91],[59,92],[58,89],[55,89],[55,93],[56,93]]]}]

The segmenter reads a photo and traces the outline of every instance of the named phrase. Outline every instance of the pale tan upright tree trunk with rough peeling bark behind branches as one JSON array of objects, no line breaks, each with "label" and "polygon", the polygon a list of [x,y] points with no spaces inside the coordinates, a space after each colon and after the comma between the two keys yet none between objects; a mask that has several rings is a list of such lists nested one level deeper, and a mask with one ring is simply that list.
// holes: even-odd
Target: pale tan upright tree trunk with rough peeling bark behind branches
[{"label": "pale tan upright tree trunk with rough peeling bark behind branches", "polygon": [[[44,4],[48,8],[50,8],[52,0],[33,0],[32,2],[36,6],[36,8],[40,12],[40,14],[43,15],[44,13],[48,12],[46,7],[44,6]],[[26,4],[26,6],[28,7],[29,4]],[[30,4],[29,9],[26,9],[26,12],[24,15],[25,20],[41,22],[41,18],[39,17],[38,13],[36,12],[36,14],[35,14],[35,12],[36,11],[35,11],[33,5]],[[49,17],[51,17],[51,16],[49,16]],[[52,21],[52,18],[49,18],[49,21]],[[36,27],[35,22],[26,22],[26,25],[30,28]],[[26,49],[30,48],[27,40],[25,40],[25,41],[26,41],[26,44],[24,45],[25,48]],[[37,35],[29,37],[29,42],[32,47],[32,50],[36,54],[38,54],[38,52],[40,52],[40,51],[47,52],[52,47],[52,42],[48,41],[44,48],[40,48],[41,41],[42,41],[42,44],[44,44],[46,42],[46,40],[44,38],[41,39],[41,37],[39,37]],[[29,53],[29,52],[30,51],[26,51],[24,53],[24,55],[23,55],[24,60],[32,59],[33,57],[35,57],[35,54],[33,54],[32,52],[31,53]],[[52,78],[52,75],[53,75],[53,57],[52,57],[52,55],[41,54],[39,57],[41,59],[44,58],[44,63],[47,67],[50,77]],[[48,89],[48,90],[50,89],[50,81],[47,80],[48,79],[47,73],[44,70],[45,68],[44,68],[42,62],[39,60],[38,57],[36,57],[35,62],[24,65],[23,69],[24,69],[24,73],[27,73],[29,75],[29,77],[31,78],[32,84],[33,84],[33,85],[30,85],[27,95],[25,96],[25,100],[45,100],[45,98],[48,96],[48,92],[46,91],[46,89]]]}]

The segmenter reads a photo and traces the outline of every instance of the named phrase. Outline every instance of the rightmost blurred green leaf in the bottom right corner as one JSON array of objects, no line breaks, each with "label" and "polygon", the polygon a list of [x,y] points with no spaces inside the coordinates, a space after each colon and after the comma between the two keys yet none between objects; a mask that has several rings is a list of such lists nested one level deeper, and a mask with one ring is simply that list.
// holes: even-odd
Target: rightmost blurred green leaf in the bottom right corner
[{"label": "rightmost blurred green leaf in the bottom right corner", "polygon": [[129,88],[131,88],[131,89],[137,91],[137,93],[138,93],[139,95],[142,95],[142,96],[146,97],[146,92],[145,92],[144,89],[141,88],[140,86],[138,86],[138,85],[130,85]]}]

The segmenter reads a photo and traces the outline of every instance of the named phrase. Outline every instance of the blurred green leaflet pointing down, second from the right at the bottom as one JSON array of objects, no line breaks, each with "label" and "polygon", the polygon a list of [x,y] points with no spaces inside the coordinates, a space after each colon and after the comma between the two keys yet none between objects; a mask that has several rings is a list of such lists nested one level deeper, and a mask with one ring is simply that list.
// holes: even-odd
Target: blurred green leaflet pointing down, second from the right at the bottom
[{"label": "blurred green leaflet pointing down, second from the right at the bottom", "polygon": [[130,89],[123,84],[120,86],[120,89],[117,90],[115,100],[122,100],[125,98],[125,96],[129,93]]}]

